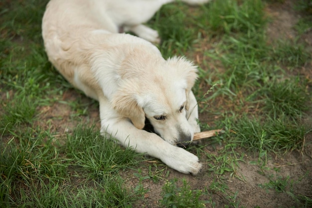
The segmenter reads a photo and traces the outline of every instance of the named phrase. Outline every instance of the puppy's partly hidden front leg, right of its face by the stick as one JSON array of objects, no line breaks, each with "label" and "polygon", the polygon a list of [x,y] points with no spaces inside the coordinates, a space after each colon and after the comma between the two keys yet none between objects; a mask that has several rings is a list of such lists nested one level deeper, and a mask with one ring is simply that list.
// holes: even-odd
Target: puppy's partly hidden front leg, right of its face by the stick
[{"label": "puppy's partly hidden front leg, right of its face by the stick", "polygon": [[198,120],[198,105],[196,98],[192,91],[189,93],[189,109],[186,111],[186,118],[188,123],[193,128],[194,133],[200,132]]}]

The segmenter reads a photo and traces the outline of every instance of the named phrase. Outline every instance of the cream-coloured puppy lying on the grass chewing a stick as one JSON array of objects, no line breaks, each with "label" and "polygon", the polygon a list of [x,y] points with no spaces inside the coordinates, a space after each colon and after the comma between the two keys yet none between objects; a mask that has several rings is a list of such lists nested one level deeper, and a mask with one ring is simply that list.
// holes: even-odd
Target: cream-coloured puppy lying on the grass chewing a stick
[{"label": "cream-coloured puppy lying on the grass chewing a stick", "polygon": [[[175,146],[191,142],[200,131],[191,91],[197,69],[184,58],[164,60],[156,46],[142,39],[159,40],[142,23],[169,1],[51,0],[42,35],[57,70],[99,101],[103,134],[179,172],[197,174],[198,158]],[[120,34],[120,27],[142,38]],[[159,136],[142,130],[146,118]]]}]

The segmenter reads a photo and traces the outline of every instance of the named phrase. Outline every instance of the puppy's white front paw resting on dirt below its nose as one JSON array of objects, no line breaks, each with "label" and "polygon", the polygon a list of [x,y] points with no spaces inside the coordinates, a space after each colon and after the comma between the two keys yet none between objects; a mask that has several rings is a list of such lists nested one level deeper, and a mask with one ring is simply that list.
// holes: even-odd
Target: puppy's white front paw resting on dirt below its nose
[{"label": "puppy's white front paw resting on dirt below its nose", "polygon": [[184,174],[197,175],[202,167],[197,156],[179,147],[174,147],[170,156],[162,161],[170,168]]}]

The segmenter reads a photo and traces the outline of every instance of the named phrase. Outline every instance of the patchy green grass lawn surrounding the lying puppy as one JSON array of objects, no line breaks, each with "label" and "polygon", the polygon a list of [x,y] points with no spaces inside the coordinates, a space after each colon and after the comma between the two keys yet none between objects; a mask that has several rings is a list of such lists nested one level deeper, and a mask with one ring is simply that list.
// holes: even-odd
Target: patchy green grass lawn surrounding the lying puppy
[{"label": "patchy green grass lawn surrounding the lying puppy", "polygon": [[[1,208],[249,207],[240,196],[244,187],[232,186],[247,183],[246,164],[267,178],[259,188],[287,196],[294,207],[311,207],[311,194],[295,190],[307,185],[309,170],[273,176],[269,167],[275,158],[307,155],[311,145],[312,57],[304,42],[312,26],[309,0],[296,1],[301,18],[293,39],[267,36],[266,7],[283,0],[176,2],[148,23],[159,31],[164,57],[198,61],[193,91],[200,125],[224,130],[187,148],[204,169],[182,180],[158,160],[100,136],[90,115],[98,104],[73,90],[46,57],[40,28],[46,3],[4,0],[0,8]],[[55,116],[60,106],[69,113]],[[161,193],[154,196],[152,185]]]}]

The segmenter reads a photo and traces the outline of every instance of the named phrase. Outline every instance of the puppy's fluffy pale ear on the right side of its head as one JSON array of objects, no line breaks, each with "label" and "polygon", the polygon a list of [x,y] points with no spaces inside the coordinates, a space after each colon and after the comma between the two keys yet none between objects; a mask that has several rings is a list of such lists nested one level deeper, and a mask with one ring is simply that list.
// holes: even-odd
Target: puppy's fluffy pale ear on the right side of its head
[{"label": "puppy's fluffy pale ear on the right side of its head", "polygon": [[186,103],[185,109],[189,109],[189,93],[192,87],[195,84],[197,79],[197,66],[193,62],[186,60],[184,57],[172,57],[167,60],[168,63],[173,66],[176,70],[176,73],[186,82],[185,94],[186,94]]}]

